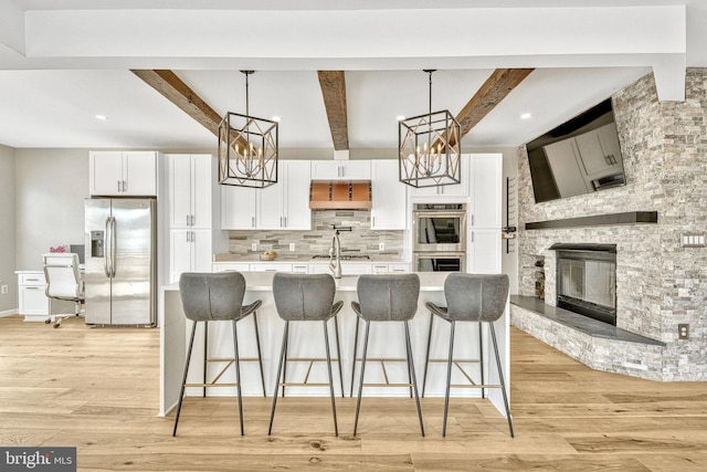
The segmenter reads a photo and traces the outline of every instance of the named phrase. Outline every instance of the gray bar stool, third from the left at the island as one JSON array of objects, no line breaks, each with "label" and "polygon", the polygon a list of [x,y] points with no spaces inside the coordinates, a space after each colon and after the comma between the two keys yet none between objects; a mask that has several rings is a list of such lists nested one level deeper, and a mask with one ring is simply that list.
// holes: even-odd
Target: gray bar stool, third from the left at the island
[{"label": "gray bar stool, third from the left at the island", "polygon": [[[412,346],[410,344],[409,322],[418,312],[418,297],[420,295],[420,277],[414,273],[405,274],[374,274],[361,275],[358,279],[356,291],[358,302],[351,302],[351,307],[360,319],[366,322],[363,335],[363,355],[361,357],[361,373],[358,384],[358,400],[356,402],[356,419],[354,421],[354,436],[358,430],[358,417],[361,408],[363,386],[367,387],[410,387],[414,392],[420,419],[420,432],[424,437],[422,423],[422,410],[418,396],[418,382],[415,379],[414,363],[412,359]],[[368,337],[371,322],[402,322],[405,327],[405,359],[371,359],[381,363],[386,374],[386,361],[403,360],[408,363],[408,384],[391,384],[386,374],[386,384],[363,384],[366,374],[366,360],[368,355]],[[356,367],[356,354],[358,350],[358,318],[356,321],[357,334],[354,340],[354,367]]]}]

